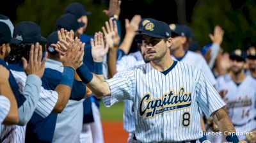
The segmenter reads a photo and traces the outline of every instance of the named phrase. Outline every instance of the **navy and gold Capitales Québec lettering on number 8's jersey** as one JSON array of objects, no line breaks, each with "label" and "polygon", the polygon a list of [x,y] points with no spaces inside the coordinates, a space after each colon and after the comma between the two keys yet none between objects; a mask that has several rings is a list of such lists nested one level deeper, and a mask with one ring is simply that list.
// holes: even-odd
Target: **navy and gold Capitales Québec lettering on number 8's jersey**
[{"label": "navy and gold Capitales Qu\u00e9bec lettering on number 8's jersey", "polygon": [[162,95],[162,98],[152,99],[149,93],[145,94],[140,102],[140,116],[154,117],[163,112],[184,109],[191,105],[191,93],[186,93],[180,87],[177,94],[173,90]]}]

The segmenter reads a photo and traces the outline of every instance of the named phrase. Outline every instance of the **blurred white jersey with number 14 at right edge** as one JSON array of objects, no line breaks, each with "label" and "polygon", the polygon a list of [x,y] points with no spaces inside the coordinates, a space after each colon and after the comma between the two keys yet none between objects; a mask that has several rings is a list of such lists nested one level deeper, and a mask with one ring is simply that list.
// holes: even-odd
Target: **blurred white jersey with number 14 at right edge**
[{"label": "blurred white jersey with number 14 at right edge", "polygon": [[[236,132],[250,132],[256,129],[256,80],[250,76],[237,86],[231,79],[230,74],[217,79],[217,91],[226,90],[227,94],[223,100],[227,103],[227,113],[236,128]],[[239,135],[239,139],[245,136]]]}]

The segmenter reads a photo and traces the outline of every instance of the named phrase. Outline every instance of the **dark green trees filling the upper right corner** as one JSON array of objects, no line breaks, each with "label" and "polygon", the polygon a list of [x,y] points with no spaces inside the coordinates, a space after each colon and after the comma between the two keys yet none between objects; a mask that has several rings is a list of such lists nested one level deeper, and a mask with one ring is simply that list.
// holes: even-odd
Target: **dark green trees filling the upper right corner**
[{"label": "dark green trees filling the upper right corner", "polygon": [[[241,2],[241,1],[240,1]],[[220,25],[225,30],[222,47],[226,51],[234,49],[248,49],[256,43],[256,4],[253,0],[199,0],[193,11],[190,26],[193,28],[196,40],[202,45],[210,43],[208,36],[214,26]]]}]

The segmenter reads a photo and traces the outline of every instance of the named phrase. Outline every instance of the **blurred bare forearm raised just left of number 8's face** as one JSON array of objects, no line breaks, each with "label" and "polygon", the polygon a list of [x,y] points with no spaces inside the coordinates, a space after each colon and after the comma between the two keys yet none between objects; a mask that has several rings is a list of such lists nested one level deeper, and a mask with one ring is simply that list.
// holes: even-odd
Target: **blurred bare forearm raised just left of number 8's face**
[{"label": "blurred bare forearm raised just left of number 8's face", "polygon": [[134,39],[135,33],[127,32],[124,36],[124,40],[122,41],[119,49],[122,49],[125,54],[128,54],[129,50],[131,49],[132,41]]}]

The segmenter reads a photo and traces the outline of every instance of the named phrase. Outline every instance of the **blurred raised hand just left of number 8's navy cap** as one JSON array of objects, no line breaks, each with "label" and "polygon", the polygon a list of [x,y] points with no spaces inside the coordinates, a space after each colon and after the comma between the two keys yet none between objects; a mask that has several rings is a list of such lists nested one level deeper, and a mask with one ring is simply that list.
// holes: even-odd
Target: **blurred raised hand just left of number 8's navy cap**
[{"label": "blurred raised hand just left of number 8's navy cap", "polygon": [[140,20],[140,15],[134,15],[131,22],[128,19],[125,19],[125,33],[135,34],[135,32],[139,29]]}]

